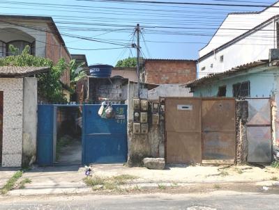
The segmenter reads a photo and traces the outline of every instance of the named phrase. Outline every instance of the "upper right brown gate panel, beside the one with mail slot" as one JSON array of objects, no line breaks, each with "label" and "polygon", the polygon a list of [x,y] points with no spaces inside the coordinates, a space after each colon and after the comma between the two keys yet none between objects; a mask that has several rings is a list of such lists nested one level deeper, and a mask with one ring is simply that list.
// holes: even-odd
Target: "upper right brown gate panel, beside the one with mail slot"
[{"label": "upper right brown gate panel, beside the one with mail slot", "polygon": [[235,131],[234,99],[202,99],[202,131]]}]

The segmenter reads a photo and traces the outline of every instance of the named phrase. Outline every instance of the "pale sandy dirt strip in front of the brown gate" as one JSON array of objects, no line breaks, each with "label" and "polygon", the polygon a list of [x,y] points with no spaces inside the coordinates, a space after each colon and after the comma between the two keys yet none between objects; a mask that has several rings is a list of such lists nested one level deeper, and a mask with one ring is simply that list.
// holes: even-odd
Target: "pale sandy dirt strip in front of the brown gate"
[{"label": "pale sandy dirt strip in front of the brown gate", "polygon": [[93,175],[112,177],[116,175],[135,175],[135,181],[151,182],[216,182],[216,181],[267,181],[279,180],[279,169],[253,165],[175,165],[165,170],[146,168],[128,168],[124,165],[92,165]]}]

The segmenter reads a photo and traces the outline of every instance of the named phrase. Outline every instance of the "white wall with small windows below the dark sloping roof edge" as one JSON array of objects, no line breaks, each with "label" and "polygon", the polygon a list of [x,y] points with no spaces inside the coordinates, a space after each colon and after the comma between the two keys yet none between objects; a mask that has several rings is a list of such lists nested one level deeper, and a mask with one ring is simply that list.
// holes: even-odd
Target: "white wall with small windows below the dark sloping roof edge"
[{"label": "white wall with small windows below the dark sloping roof edge", "polygon": [[[266,25],[262,30],[256,31],[246,38],[239,40],[234,45],[218,51],[205,60],[198,63],[197,77],[201,78],[210,73],[224,72],[234,67],[251,63],[257,60],[269,59],[269,49],[274,46],[274,24],[273,22]],[[276,42],[275,42],[276,43]],[[223,63],[220,62],[220,56],[224,56]],[[211,67],[213,64],[213,67]],[[202,70],[205,67],[205,70]]]}]

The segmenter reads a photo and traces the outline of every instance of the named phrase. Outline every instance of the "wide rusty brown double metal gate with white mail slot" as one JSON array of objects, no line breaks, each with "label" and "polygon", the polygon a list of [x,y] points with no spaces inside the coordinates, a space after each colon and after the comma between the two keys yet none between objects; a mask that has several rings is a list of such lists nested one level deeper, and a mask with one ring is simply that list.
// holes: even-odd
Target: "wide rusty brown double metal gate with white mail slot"
[{"label": "wide rusty brown double metal gate with white mail slot", "polygon": [[235,100],[167,97],[165,136],[167,163],[233,163]]}]

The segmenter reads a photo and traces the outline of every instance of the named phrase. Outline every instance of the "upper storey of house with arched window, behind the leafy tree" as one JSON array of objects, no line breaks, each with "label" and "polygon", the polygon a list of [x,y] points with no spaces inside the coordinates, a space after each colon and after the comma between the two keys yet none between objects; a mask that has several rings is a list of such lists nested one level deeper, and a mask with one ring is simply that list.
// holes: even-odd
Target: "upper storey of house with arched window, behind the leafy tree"
[{"label": "upper storey of house with arched window, behind the leafy tree", "polygon": [[[11,51],[10,45],[19,51]],[[70,53],[52,17],[0,15],[0,57],[21,53],[27,45],[33,56],[49,58],[54,63],[60,58],[70,62]],[[61,82],[70,86],[69,70],[63,73]],[[70,92],[66,89],[63,92],[69,98]]]}]

